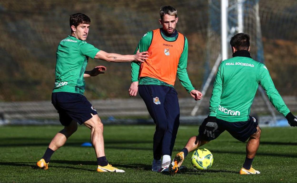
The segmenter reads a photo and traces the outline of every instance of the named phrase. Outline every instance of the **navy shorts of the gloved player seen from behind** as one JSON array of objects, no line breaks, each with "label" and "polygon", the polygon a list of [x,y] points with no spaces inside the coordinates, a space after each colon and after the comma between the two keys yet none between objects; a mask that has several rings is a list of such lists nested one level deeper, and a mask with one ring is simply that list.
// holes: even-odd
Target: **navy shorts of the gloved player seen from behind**
[{"label": "navy shorts of the gloved player seen from behind", "polygon": [[228,131],[235,139],[245,142],[249,137],[257,132],[258,120],[249,117],[248,121],[228,122],[217,119],[217,122],[206,122],[206,119],[199,127],[198,138],[211,141],[216,139],[225,130]]}]

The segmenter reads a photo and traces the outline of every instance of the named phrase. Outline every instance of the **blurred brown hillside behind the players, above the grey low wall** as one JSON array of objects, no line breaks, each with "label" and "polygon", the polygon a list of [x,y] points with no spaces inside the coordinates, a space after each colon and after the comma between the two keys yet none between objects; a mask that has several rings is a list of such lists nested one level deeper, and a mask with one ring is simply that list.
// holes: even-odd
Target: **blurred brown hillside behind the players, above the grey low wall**
[{"label": "blurred brown hillside behind the players, above the grey low wall", "polygon": [[[0,101],[50,100],[56,47],[70,34],[69,15],[91,18],[87,42],[107,52],[132,54],[147,31],[159,28],[159,8],[178,10],[177,30],[189,40],[188,73],[200,90],[205,74],[208,1],[35,1],[1,0]],[[260,0],[265,64],[282,96],[297,96],[297,1]],[[220,28],[218,20],[218,28]],[[220,44],[220,40],[217,40]],[[215,50],[220,52],[220,50]],[[231,54],[229,54],[229,57]],[[255,55],[252,57],[255,58]],[[104,65],[105,74],[86,79],[89,99],[128,98],[130,63],[89,59],[88,69]],[[179,97],[189,97],[176,82]]]}]

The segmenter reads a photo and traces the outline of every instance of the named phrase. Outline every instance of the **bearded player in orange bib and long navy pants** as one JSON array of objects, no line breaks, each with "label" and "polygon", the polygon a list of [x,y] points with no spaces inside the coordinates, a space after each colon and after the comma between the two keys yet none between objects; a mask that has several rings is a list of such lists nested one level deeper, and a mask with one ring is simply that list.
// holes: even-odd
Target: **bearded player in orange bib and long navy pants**
[{"label": "bearded player in orange bib and long navy pants", "polygon": [[[159,19],[162,28],[147,32],[136,51],[148,51],[148,59],[132,62],[132,84],[129,95],[143,98],[156,124],[154,134],[152,171],[168,171],[179,126],[179,105],[173,85],[176,74],[187,92],[200,100],[202,93],[192,86],[187,73],[188,41],[176,28],[177,11],[162,7]],[[162,162],[161,162],[161,157]]]}]

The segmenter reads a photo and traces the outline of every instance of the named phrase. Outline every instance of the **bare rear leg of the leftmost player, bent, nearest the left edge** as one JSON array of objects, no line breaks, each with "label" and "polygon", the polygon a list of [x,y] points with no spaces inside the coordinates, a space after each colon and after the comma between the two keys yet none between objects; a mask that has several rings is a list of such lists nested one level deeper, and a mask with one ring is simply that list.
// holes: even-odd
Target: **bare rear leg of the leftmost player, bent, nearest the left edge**
[{"label": "bare rear leg of the leftmost player, bent, nearest the left edge", "polygon": [[72,121],[70,125],[65,126],[63,130],[59,131],[49,144],[49,148],[56,151],[62,147],[67,139],[77,130],[77,122]]}]

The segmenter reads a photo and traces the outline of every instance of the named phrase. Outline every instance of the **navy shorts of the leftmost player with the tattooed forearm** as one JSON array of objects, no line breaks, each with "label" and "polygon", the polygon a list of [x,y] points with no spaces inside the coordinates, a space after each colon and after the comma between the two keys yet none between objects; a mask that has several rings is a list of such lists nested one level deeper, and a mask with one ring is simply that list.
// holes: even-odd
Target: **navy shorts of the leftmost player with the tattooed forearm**
[{"label": "navy shorts of the leftmost player with the tattooed forearm", "polygon": [[92,118],[91,114],[97,114],[87,98],[78,93],[53,92],[52,104],[57,109],[63,126],[68,126],[72,120],[82,125]]}]

